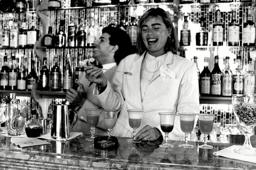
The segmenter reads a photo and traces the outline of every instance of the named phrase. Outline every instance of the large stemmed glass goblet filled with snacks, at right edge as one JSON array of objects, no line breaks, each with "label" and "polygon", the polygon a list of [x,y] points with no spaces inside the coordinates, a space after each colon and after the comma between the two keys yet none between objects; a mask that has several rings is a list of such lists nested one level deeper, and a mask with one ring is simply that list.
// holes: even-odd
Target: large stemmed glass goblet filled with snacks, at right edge
[{"label": "large stemmed glass goblet filled with snacks, at right edge", "polygon": [[243,127],[245,137],[243,145],[233,151],[243,155],[256,156],[256,152],[251,146],[250,136],[256,125],[256,96],[232,96],[232,106],[236,120]]}]

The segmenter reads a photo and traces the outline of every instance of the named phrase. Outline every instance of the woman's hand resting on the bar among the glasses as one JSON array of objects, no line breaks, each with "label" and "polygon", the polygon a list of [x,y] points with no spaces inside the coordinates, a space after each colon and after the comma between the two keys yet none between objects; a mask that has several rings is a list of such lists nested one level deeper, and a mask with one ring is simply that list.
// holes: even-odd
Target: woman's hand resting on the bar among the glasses
[{"label": "woman's hand resting on the bar among the glasses", "polygon": [[151,127],[150,125],[144,126],[138,133],[134,136],[135,139],[141,140],[157,140],[161,136],[161,132],[156,127]]}]

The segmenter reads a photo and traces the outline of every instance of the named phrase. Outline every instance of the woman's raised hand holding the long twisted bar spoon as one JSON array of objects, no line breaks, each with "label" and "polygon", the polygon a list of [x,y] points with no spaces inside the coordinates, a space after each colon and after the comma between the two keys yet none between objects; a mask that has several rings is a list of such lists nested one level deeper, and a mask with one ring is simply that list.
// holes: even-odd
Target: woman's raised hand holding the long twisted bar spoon
[{"label": "woman's raised hand holding the long twisted bar spoon", "polygon": [[107,85],[107,79],[103,74],[102,70],[93,68],[92,64],[89,63],[89,66],[84,67],[85,78],[91,82],[95,82],[100,87],[105,87]]}]

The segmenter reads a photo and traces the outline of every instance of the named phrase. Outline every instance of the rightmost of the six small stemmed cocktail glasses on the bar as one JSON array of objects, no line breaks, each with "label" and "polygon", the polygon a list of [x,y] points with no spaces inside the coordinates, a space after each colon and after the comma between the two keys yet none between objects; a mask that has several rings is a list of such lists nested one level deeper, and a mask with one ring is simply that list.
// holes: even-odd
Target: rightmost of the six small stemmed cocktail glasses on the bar
[{"label": "rightmost of the six small stemmed cocktail glasses on the bar", "polygon": [[204,144],[199,145],[199,148],[211,149],[213,146],[207,144],[208,134],[211,132],[213,127],[213,120],[215,114],[200,113],[199,116],[199,129],[204,133]]}]

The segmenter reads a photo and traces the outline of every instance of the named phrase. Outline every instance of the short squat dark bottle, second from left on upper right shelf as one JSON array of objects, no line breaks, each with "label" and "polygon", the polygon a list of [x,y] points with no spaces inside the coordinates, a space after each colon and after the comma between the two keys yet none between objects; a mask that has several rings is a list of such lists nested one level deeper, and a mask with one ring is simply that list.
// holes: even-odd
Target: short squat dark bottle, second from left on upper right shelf
[{"label": "short squat dark bottle, second from left on upper right shelf", "polygon": [[206,30],[205,18],[200,18],[200,30],[196,32],[196,45],[207,46],[208,45],[208,31]]}]

